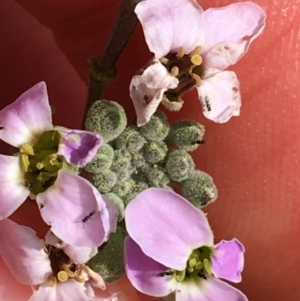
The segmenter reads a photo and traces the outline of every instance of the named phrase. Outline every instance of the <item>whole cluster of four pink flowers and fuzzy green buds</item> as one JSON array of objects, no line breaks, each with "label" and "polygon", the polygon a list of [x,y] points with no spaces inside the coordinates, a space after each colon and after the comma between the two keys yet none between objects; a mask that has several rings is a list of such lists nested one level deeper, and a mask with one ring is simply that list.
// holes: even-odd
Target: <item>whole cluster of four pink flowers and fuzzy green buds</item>
[{"label": "whole cluster of four pink flowers and fuzzy green buds", "polygon": [[[93,287],[125,273],[155,297],[247,301],[221,280],[241,281],[244,246],[214,244],[202,211],[218,196],[191,156],[204,126],[170,124],[157,109],[180,110],[195,87],[205,117],[238,116],[239,82],[225,69],[262,32],[265,13],[251,2],[203,11],[195,0],[144,0],[135,12],[154,54],[130,83],[135,123],[119,103],[97,100],[86,130],[53,126],[44,82],[0,111],[0,139],[16,148],[0,155],[0,255],[35,286],[28,301],[96,301]],[[48,225],[43,239],[9,219],[25,201]]]}]

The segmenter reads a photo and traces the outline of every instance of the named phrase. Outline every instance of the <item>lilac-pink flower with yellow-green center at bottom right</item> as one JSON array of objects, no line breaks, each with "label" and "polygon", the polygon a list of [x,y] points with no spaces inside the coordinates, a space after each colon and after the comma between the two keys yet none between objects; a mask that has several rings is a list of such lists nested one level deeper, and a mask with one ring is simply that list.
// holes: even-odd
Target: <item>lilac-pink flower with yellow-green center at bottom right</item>
[{"label": "lilac-pink flower with yellow-green center at bottom right", "polygon": [[237,240],[213,245],[202,211],[170,190],[149,188],[126,208],[126,274],[142,293],[176,301],[247,301],[219,280],[241,281],[244,247]]}]

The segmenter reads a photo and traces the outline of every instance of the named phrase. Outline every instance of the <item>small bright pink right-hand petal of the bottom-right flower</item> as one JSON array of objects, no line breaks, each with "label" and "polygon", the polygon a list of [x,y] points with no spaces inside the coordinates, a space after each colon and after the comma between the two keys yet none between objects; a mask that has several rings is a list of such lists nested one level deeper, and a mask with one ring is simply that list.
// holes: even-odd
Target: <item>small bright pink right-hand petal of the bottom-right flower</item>
[{"label": "small bright pink right-hand petal of the bottom-right flower", "polygon": [[241,282],[244,268],[245,248],[236,238],[222,240],[214,247],[212,260],[213,274],[232,282]]}]

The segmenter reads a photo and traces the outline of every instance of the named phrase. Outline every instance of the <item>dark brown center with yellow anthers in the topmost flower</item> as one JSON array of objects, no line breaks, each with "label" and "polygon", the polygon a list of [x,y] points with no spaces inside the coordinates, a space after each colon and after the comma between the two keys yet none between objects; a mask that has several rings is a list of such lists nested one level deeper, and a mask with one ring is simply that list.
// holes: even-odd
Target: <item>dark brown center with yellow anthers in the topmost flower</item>
[{"label": "dark brown center with yellow anthers in the topmost flower", "polygon": [[179,84],[175,89],[169,89],[165,96],[169,101],[179,101],[182,94],[201,85],[201,76],[203,69],[201,67],[202,57],[199,54],[201,46],[195,47],[193,51],[185,54],[184,48],[181,47],[179,52],[170,53],[160,61],[178,80]]}]

